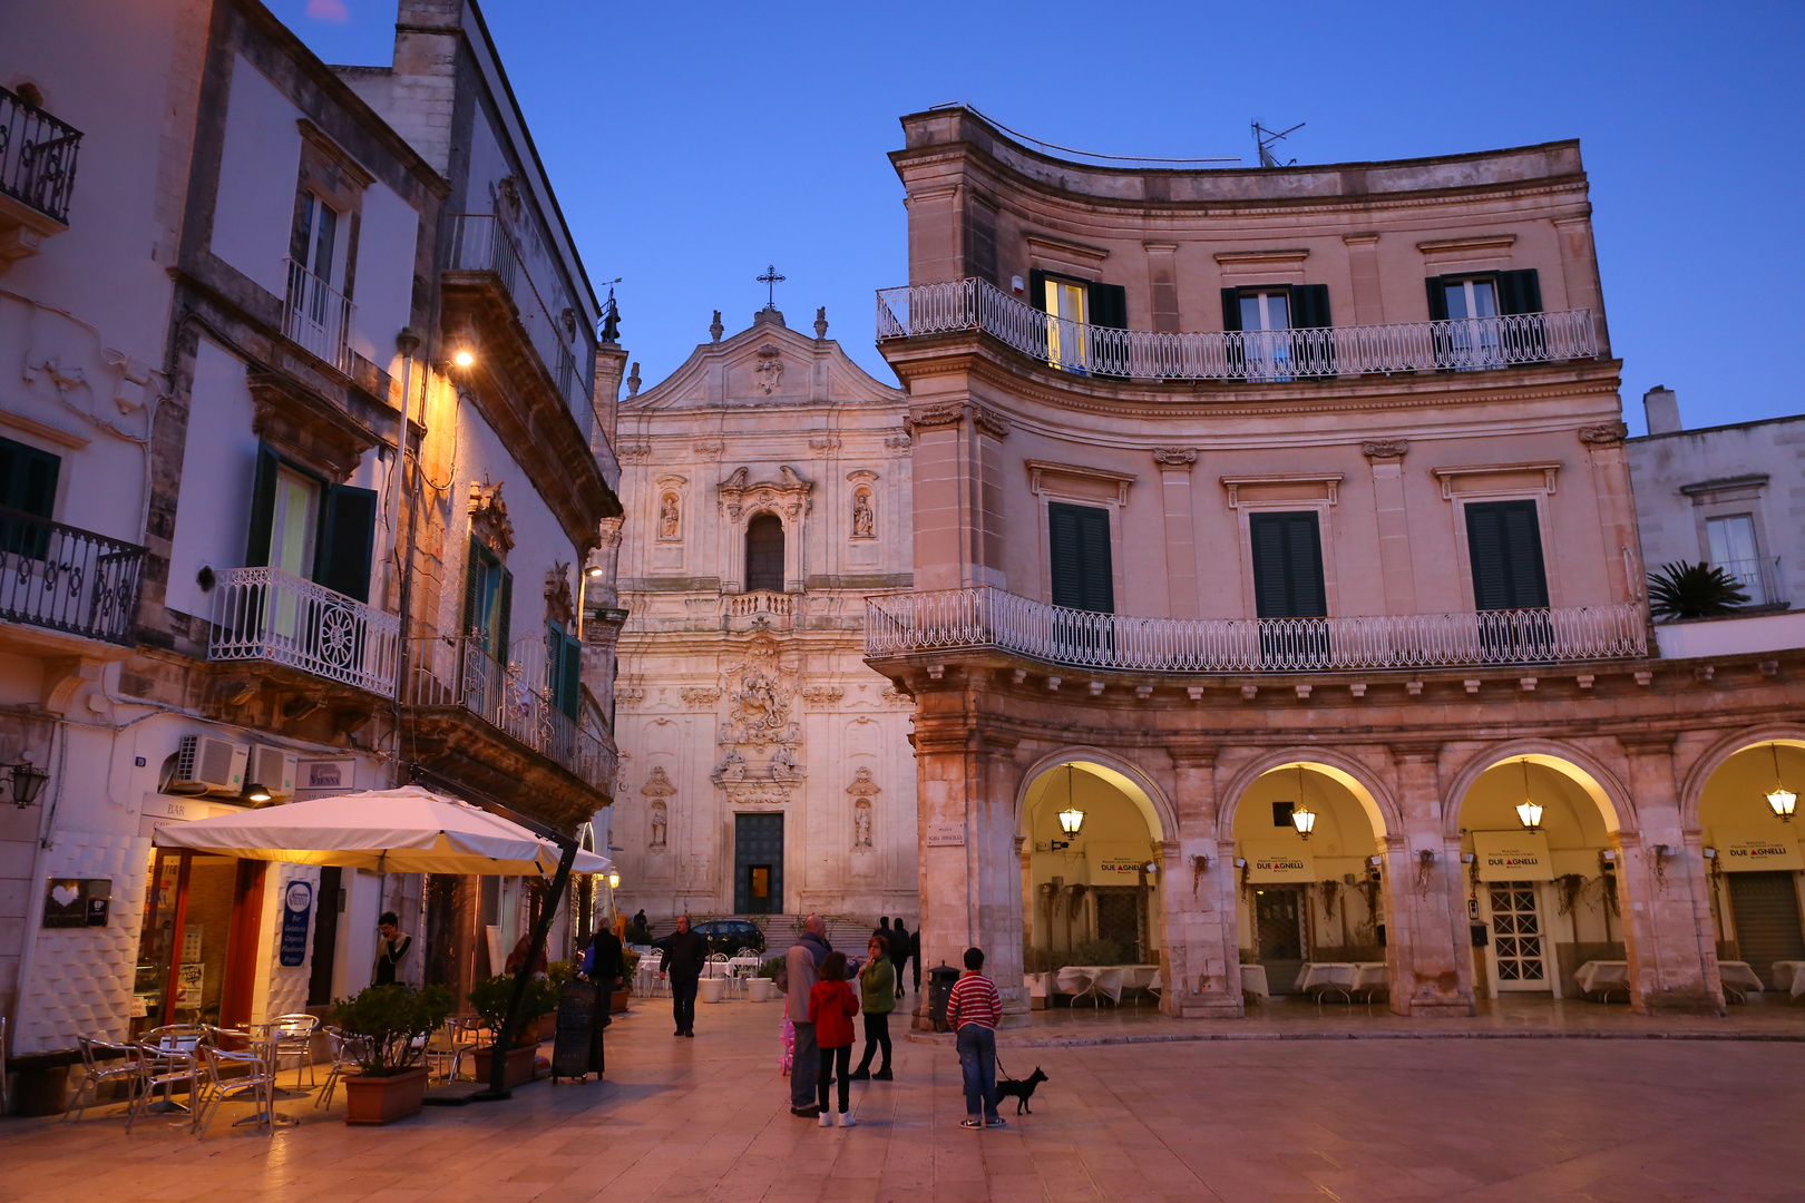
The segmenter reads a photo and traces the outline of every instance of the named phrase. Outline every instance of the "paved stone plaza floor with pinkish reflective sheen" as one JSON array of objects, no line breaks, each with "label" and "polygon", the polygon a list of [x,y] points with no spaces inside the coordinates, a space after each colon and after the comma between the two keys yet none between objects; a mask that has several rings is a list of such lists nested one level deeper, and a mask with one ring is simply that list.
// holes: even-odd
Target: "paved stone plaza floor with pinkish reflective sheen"
[{"label": "paved stone plaza floor with pinkish reflective sheen", "polygon": [[[1032,1116],[1005,1106],[1007,1129],[969,1133],[948,1048],[899,1041],[897,1080],[854,1086],[861,1125],[823,1131],[789,1115],[774,1005],[704,1006],[673,1041],[641,1003],[610,1028],[603,1086],[536,1082],[386,1129],[345,1127],[343,1095],[330,1113],[282,1102],[301,1124],[274,1136],[231,1131],[229,1109],[202,1142],[96,1111],[7,1120],[0,1199],[1798,1199],[1800,1012],[1754,1010],[1718,1028],[1751,1041],[1392,1039],[1298,1015],[1296,1035],[1374,1039],[1005,1048],[1051,1080]],[[1083,1019],[1041,1033],[1083,1039]],[[1635,1030],[1653,1028],[1624,1015],[1617,1033]]]}]

